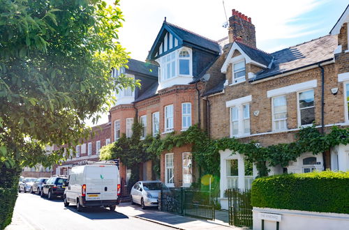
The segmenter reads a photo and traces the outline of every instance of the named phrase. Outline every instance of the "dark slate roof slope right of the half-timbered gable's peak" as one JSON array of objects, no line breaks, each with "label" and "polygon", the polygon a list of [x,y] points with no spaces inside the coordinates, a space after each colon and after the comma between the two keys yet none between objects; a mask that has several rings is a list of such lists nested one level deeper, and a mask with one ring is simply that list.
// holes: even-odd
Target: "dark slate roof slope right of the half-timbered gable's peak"
[{"label": "dark slate roof slope right of the half-timbered gable's peak", "polygon": [[179,36],[184,42],[191,43],[193,45],[198,45],[200,47],[204,47],[206,49],[211,49],[214,52],[220,52],[220,48],[218,43],[215,40],[211,40],[209,38],[205,38],[203,36],[198,35],[198,33],[193,33],[192,31],[188,31],[187,29],[181,28],[174,24],[164,22],[167,26],[174,31],[174,33]]}]

